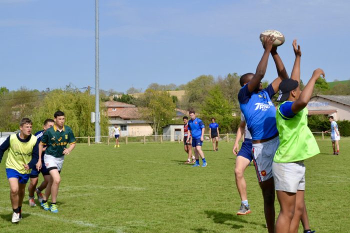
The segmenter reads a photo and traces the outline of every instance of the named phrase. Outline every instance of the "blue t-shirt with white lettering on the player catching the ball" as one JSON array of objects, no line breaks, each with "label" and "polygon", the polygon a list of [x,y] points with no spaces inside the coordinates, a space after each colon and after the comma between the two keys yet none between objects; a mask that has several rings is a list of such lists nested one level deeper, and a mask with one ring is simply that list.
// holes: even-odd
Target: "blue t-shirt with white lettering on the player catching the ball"
[{"label": "blue t-shirt with white lettering on the player catching the ball", "polygon": [[271,84],[259,92],[249,92],[245,84],[238,92],[239,106],[253,140],[266,139],[278,132],[276,108],[271,101],[274,94]]}]

